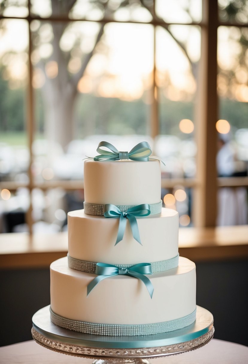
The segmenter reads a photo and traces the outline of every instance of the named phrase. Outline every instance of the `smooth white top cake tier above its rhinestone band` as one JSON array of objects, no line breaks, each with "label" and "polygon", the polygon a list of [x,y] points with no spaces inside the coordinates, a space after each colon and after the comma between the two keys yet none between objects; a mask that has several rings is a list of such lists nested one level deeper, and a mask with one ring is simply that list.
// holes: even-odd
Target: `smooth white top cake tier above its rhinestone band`
[{"label": "smooth white top cake tier above its rhinestone band", "polygon": [[140,205],[161,199],[160,162],[84,162],[84,199],[104,205]]}]

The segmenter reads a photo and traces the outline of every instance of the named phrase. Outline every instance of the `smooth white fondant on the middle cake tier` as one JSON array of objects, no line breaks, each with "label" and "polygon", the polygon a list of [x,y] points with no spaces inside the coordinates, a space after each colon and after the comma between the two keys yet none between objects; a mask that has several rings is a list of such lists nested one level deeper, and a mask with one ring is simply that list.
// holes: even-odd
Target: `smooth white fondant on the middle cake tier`
[{"label": "smooth white fondant on the middle cake tier", "polygon": [[124,238],[115,246],[119,219],[86,215],[84,210],[71,211],[68,213],[69,256],[91,262],[136,264],[177,255],[178,213],[175,210],[163,208],[161,214],[137,218],[137,223],[142,245],[133,238],[127,221]]}]

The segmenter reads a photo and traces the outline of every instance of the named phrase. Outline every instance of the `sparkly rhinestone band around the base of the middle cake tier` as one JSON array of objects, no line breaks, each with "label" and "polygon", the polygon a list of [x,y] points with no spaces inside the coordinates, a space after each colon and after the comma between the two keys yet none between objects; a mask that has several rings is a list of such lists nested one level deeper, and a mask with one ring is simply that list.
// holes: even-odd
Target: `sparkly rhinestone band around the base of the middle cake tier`
[{"label": "sparkly rhinestone band around the base of the middle cake tier", "polygon": [[[69,268],[80,270],[81,272],[85,273],[95,273],[96,271],[96,263],[89,262],[86,260],[80,260],[77,258],[72,258],[67,254],[68,257],[68,266]],[[179,254],[176,257],[167,259],[167,260],[160,260],[158,262],[152,262],[152,273],[159,273],[164,272],[165,270],[177,268],[179,260]],[[129,268],[133,264],[114,264],[118,268]]]}]

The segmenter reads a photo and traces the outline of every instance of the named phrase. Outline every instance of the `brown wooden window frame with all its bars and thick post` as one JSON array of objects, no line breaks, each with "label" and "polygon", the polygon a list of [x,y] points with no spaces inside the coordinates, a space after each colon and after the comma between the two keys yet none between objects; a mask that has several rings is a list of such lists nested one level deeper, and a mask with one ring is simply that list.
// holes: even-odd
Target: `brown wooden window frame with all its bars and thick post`
[{"label": "brown wooden window frame with all its bars and thick post", "polygon": [[[217,0],[203,0],[203,18],[198,22],[189,24],[182,23],[167,23],[182,24],[182,25],[199,25],[201,28],[201,58],[199,64],[200,82],[197,92],[197,108],[195,110],[196,123],[196,140],[197,140],[197,168],[196,177],[192,179],[162,179],[162,187],[172,189],[175,185],[182,185],[193,188],[193,222],[196,227],[214,227],[216,225],[217,213],[217,189],[219,186],[248,186],[248,177],[241,178],[217,178],[216,173],[216,153],[217,153],[217,131],[215,123],[218,119],[218,97],[217,97],[217,29],[221,25],[248,27],[246,24],[223,23],[218,18],[218,2]],[[33,179],[31,167],[33,163],[32,143],[35,132],[35,116],[34,116],[34,95],[32,87],[32,40],[30,24],[33,20],[43,21],[84,21],[84,19],[69,19],[67,16],[49,18],[40,18],[39,16],[31,15],[31,4],[28,0],[29,15],[27,17],[12,17],[0,15],[2,19],[23,19],[28,21],[29,28],[29,49],[28,49],[28,87],[27,87],[27,135],[28,149],[30,154],[30,162],[28,167],[29,182],[21,184],[16,182],[0,182],[0,189],[8,189],[15,191],[18,187],[25,186],[29,189],[29,193],[34,188],[48,190],[51,188],[62,187],[65,190],[77,190],[83,188],[81,181],[46,181],[37,183]],[[155,8],[154,8],[155,11]],[[90,20],[87,20],[90,21]],[[153,102],[151,105],[151,136],[155,138],[159,135],[159,112],[157,100],[157,85],[156,85],[156,26],[161,25],[159,21],[152,20],[148,23],[135,21],[116,21],[113,19],[105,19],[97,21],[98,23],[138,23],[151,24],[154,29],[154,69],[153,69]],[[164,23],[163,23],[164,24]],[[211,24],[211,26],[210,26]],[[27,212],[27,223],[29,232],[32,234],[32,201]]]}]

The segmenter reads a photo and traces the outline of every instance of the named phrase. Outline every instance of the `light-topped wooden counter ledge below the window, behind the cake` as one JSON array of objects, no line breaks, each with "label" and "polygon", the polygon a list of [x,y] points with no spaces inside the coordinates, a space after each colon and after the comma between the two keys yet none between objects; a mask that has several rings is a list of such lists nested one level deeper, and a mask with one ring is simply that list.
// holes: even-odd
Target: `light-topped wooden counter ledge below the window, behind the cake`
[{"label": "light-topped wooden counter ledge below the window, behind the cake", "polygon": [[[67,232],[0,234],[0,269],[48,268],[66,256]],[[180,228],[179,254],[194,262],[248,258],[248,225]]]}]

